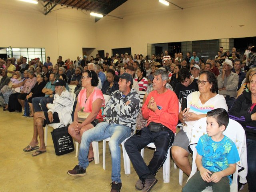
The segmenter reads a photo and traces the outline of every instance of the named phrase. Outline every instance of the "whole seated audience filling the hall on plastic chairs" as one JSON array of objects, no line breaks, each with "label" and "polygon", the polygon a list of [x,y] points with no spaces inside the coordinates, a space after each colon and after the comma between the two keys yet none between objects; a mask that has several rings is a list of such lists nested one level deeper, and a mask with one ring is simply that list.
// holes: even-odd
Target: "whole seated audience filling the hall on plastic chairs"
[{"label": "whole seated audience filling the hall on plastic chairs", "polygon": [[[193,182],[200,182],[201,189],[212,186],[218,191],[222,186],[228,191],[230,175],[236,171],[235,163],[239,160],[236,148],[228,150],[228,155],[223,157],[227,158],[227,166],[213,172],[214,169],[207,169],[205,153],[200,147],[206,141],[211,140],[214,144],[224,139],[234,145],[222,134],[229,116],[245,130],[246,179],[249,191],[256,191],[256,47],[251,44],[244,56],[236,48],[230,53],[220,47],[215,58],[207,60],[198,58],[196,52],[192,52],[192,56],[187,52],[185,57],[182,52],[175,53],[172,57],[167,50],[157,56],[153,54],[150,59],[142,54],[109,57],[106,53],[104,58],[97,54],[88,59],[84,55],[82,60],[77,57],[74,62],[69,58],[63,62],[59,56],[55,65],[49,56],[43,65],[40,58],[27,63],[27,58],[20,56],[17,60],[0,59],[0,74],[3,110],[19,111],[22,116],[34,118],[33,137],[24,152],[36,150],[32,156],[46,152],[43,127],[56,122],[67,126],[73,120],[68,132],[80,143],[80,152],[78,165],[67,172],[71,176],[85,175],[86,168],[94,160],[92,142],[108,137],[112,158],[111,192],[119,192],[122,188],[119,145],[127,138],[125,148],[139,177],[136,189],[148,192],[153,188],[157,182],[156,173],[164,164],[170,147],[175,164],[190,176],[192,168],[188,156],[192,127],[197,120],[207,116],[207,129],[211,131],[200,138],[202,143],[197,146],[199,172],[183,191],[198,191],[193,188]],[[74,106],[69,89],[76,95]],[[108,102],[105,102],[106,97]],[[186,108],[181,109],[180,104],[184,101]],[[79,118],[80,113],[86,114],[86,118]],[[176,133],[179,123],[182,128]],[[131,136],[135,129],[141,129],[140,134]],[[156,151],[147,166],[140,150],[151,142]],[[212,164],[212,168],[214,166]]]}]

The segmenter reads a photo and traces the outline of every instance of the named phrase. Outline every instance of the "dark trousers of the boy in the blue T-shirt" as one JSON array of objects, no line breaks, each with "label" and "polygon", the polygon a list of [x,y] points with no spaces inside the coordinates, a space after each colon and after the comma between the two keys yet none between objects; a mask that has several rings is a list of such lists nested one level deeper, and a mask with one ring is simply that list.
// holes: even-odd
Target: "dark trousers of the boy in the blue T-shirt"
[{"label": "dark trousers of the boy in the blue T-shirt", "polygon": [[[213,172],[212,172],[213,174]],[[212,174],[209,174],[210,176]],[[227,176],[222,177],[217,183],[206,182],[202,179],[200,172],[196,172],[187,184],[182,188],[182,192],[198,192],[203,191],[206,187],[211,186],[213,192],[230,192],[229,178]]]}]

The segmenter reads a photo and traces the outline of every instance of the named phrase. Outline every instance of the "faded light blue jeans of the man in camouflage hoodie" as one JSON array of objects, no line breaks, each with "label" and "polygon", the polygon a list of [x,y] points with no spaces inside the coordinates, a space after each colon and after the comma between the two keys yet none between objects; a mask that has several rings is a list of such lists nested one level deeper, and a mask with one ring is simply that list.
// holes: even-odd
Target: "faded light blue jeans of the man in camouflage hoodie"
[{"label": "faded light blue jeans of the man in camouflage hoodie", "polygon": [[107,122],[102,122],[97,124],[96,127],[87,130],[82,135],[82,140],[80,144],[79,156],[78,156],[78,165],[82,168],[86,169],[89,165],[88,162],[88,152],[90,148],[90,143],[92,141],[101,141],[108,137],[109,141],[109,149],[111,153],[112,159],[112,182],[121,182],[121,174],[120,174],[120,147],[119,145],[130,136],[131,129],[124,125],[119,124],[109,124]]}]

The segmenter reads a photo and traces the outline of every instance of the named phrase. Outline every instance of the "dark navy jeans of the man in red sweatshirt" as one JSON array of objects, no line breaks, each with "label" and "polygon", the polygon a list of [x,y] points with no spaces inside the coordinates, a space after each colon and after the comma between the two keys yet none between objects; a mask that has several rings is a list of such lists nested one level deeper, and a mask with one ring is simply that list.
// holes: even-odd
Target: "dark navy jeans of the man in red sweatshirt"
[{"label": "dark navy jeans of the man in red sweatshirt", "polygon": [[[168,149],[172,146],[173,140],[174,134],[169,129],[160,132],[151,132],[148,127],[144,127],[141,130],[140,137],[133,135],[125,142],[126,152],[140,180],[146,179],[151,174],[156,175],[166,160]],[[151,142],[155,143],[156,151],[147,166],[140,155],[140,150]]]}]

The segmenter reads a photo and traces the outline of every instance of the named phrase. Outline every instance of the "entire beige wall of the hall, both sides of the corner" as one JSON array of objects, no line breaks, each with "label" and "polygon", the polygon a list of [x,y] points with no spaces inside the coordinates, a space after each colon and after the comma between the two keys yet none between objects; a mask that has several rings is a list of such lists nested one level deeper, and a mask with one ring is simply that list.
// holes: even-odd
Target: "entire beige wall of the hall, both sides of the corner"
[{"label": "entire beige wall of the hall, both sides of the corner", "polygon": [[[62,9],[43,14],[38,5],[17,0],[0,1],[0,47],[46,48],[56,62],[96,48],[131,47],[132,54],[147,53],[147,44],[256,36],[255,0],[173,0],[184,7],[164,6],[157,0],[128,0],[98,22],[89,12]],[[56,8],[62,8],[56,6]],[[240,27],[239,25],[244,25]]]}]

